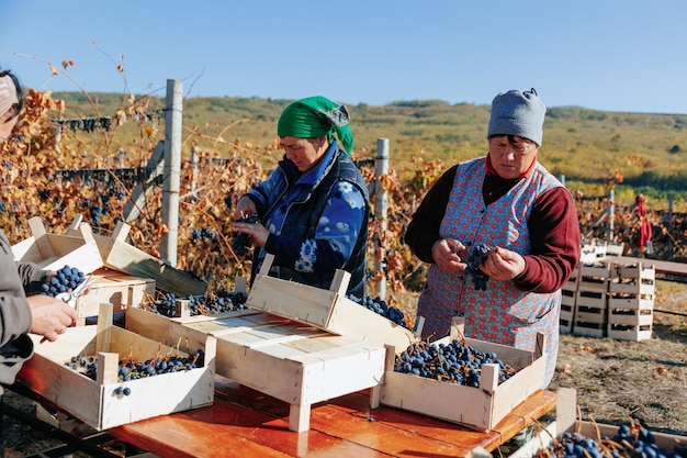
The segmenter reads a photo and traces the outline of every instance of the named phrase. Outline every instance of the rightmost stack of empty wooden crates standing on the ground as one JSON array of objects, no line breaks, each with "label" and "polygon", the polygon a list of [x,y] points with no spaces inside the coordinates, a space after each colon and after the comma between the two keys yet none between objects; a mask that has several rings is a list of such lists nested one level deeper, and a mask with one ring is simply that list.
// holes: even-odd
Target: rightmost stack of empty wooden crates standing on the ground
[{"label": "rightmost stack of empty wooden crates standing on the ground", "polygon": [[651,338],[656,270],[653,266],[611,264],[608,290],[608,337],[620,340]]}]

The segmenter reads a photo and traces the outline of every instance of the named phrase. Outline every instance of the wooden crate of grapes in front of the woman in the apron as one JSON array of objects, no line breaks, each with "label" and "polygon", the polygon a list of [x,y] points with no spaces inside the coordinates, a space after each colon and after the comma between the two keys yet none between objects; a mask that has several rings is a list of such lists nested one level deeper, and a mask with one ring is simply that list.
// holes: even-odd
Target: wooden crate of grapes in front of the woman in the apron
[{"label": "wooden crate of grapes in front of the woman in the apron", "polygon": [[[460,321],[455,320],[451,335],[437,343],[450,343],[458,338],[462,334],[458,331],[460,327]],[[495,353],[517,370],[516,375],[498,384],[498,366],[483,365],[481,386],[473,388],[401,373],[394,371],[394,358],[406,347],[388,346],[380,402],[477,431],[489,431],[544,383],[545,337],[541,333],[537,345],[541,351],[526,351],[471,338],[465,339],[465,345]]]}]

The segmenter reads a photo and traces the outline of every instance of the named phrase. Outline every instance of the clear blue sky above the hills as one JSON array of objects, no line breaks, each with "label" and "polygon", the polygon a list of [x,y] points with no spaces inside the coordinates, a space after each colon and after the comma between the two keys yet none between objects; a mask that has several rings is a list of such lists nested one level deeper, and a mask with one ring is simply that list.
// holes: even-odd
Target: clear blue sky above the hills
[{"label": "clear blue sky above the hills", "polygon": [[687,113],[684,0],[1,0],[0,22],[0,67],[41,90]]}]

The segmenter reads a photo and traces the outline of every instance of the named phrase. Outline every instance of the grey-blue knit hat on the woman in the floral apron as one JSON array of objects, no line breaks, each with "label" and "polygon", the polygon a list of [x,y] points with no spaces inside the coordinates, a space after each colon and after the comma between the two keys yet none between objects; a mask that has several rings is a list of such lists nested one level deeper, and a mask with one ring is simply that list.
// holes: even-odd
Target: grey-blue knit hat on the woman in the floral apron
[{"label": "grey-blue knit hat on the woman in the floral apron", "polygon": [[541,146],[545,113],[547,107],[534,88],[525,92],[502,92],[492,101],[487,138],[492,135],[517,135]]}]

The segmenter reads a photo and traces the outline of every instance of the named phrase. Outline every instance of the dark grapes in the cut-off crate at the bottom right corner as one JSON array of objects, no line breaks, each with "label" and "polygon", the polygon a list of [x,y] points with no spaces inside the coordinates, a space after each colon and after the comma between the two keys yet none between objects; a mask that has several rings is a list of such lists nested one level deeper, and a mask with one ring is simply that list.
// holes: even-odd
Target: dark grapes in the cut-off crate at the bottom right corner
[{"label": "dark grapes in the cut-off crate at the bottom right corner", "polygon": [[537,457],[570,457],[570,458],[685,458],[687,447],[675,445],[673,451],[656,445],[652,432],[635,425],[623,424],[618,428],[613,438],[601,437],[601,440],[586,437],[579,433],[563,433],[559,440],[554,440]]}]

